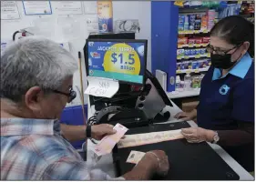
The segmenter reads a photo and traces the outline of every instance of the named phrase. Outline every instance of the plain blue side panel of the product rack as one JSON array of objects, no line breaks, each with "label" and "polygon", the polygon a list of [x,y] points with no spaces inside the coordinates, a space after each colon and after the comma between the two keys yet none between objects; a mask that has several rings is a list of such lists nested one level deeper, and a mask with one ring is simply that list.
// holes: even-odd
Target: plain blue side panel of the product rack
[{"label": "plain blue side panel of the product rack", "polygon": [[[179,7],[172,1],[151,2],[152,73],[167,73],[167,91],[175,90]],[[170,84],[170,77],[174,82]]]}]

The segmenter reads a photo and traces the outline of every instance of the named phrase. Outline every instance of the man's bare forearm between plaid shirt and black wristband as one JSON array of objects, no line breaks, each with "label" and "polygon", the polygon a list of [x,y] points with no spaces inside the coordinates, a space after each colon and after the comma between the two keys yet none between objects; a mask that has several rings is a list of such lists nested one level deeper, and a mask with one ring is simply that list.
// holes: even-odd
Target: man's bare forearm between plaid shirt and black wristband
[{"label": "man's bare forearm between plaid shirt and black wristband", "polygon": [[60,124],[63,136],[68,141],[78,141],[86,138],[86,126],[68,126]]}]

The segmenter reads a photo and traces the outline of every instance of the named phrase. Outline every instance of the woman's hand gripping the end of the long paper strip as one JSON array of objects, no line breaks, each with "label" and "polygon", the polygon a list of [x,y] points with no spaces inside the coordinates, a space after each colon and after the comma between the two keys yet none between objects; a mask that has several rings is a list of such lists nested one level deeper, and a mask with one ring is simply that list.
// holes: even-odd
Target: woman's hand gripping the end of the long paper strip
[{"label": "woman's hand gripping the end of the long paper strip", "polygon": [[181,129],[181,134],[189,143],[211,142],[215,132],[201,127],[189,127]]}]

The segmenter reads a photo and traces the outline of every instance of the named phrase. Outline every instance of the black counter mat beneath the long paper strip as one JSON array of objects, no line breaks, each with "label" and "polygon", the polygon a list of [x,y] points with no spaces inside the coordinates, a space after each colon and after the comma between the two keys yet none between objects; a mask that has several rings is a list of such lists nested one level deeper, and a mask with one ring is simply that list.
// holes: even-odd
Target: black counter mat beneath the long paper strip
[{"label": "black counter mat beneath the long paper strip", "polygon": [[[167,131],[189,127],[187,122],[161,124],[131,128],[127,135]],[[116,161],[118,176],[134,167],[126,163],[131,150],[147,152],[161,149],[169,156],[170,170],[167,177],[154,177],[163,180],[238,180],[240,177],[226,164],[226,162],[206,143],[190,144],[186,139],[171,140],[158,144],[138,147],[115,148],[113,158]]]}]

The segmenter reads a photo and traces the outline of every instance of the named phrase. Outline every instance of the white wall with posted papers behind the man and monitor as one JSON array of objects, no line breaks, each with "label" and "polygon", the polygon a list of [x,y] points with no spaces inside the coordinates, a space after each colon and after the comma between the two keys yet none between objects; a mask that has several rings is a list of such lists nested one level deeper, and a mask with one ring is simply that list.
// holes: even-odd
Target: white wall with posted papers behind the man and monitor
[{"label": "white wall with posted papers behind the man and monitor", "polygon": [[[25,15],[23,10],[23,5],[21,1],[17,1],[18,10],[20,12],[21,19],[19,20],[1,20],[1,40],[11,40],[12,35],[16,30],[21,28],[26,28],[29,26],[33,26],[33,21],[38,19],[38,15]],[[51,1],[53,15],[42,15],[42,18],[50,18],[55,23],[58,16],[54,12],[56,1]],[[63,16],[63,15],[62,15]],[[83,47],[85,45],[87,39],[87,25],[86,18],[87,15],[72,15],[72,17],[76,18],[79,24],[79,35],[76,39],[67,39],[63,35],[61,35],[59,27],[55,25],[49,25],[53,31],[55,31],[55,35],[52,37],[56,42],[68,41],[70,52],[73,56],[77,57],[77,52],[81,51],[83,53]],[[114,21],[117,19],[138,19],[140,25],[140,32],[137,33],[137,38],[148,39],[148,70],[151,70],[151,3],[150,1],[113,1],[113,18]],[[78,60],[77,60],[78,63]],[[83,63],[83,73],[84,73],[84,89],[86,88],[86,73],[85,73],[85,65],[84,59]],[[74,86],[80,87],[80,79],[79,73],[75,73],[74,75]],[[85,95],[85,103],[87,103],[87,96]],[[79,96],[73,101],[72,105],[79,105],[80,99]],[[70,106],[70,105],[69,105]]]}]

